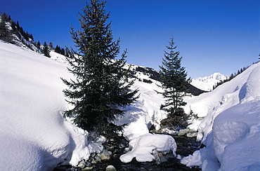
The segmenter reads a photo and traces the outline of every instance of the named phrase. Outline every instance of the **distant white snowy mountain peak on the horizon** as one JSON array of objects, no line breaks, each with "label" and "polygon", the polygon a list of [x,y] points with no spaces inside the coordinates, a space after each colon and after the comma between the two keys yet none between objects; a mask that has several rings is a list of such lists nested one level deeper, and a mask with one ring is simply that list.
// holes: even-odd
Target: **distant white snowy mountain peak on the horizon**
[{"label": "distant white snowy mountain peak on the horizon", "polygon": [[224,76],[223,74],[217,72],[210,76],[193,78],[191,85],[196,88],[200,88],[200,90],[211,91],[213,86],[216,86],[216,83],[219,81],[224,81],[226,78],[228,78],[228,76]]}]

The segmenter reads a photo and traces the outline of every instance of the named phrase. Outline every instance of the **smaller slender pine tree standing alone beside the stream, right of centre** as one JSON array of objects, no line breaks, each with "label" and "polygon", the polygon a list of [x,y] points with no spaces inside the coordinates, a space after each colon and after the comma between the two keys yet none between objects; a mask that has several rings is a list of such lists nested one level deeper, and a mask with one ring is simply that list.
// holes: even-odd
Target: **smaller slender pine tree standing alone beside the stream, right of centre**
[{"label": "smaller slender pine tree standing alone beside the stream, right of centre", "polygon": [[166,46],[169,52],[164,51],[162,66],[160,66],[160,76],[162,89],[164,90],[163,97],[166,99],[165,104],[161,105],[168,113],[168,117],[162,121],[162,125],[169,126],[186,126],[187,115],[184,114],[182,106],[183,97],[190,86],[190,78],[187,78],[187,72],[184,67],[181,67],[181,59],[179,52],[174,51],[174,39],[171,37],[169,46]]}]

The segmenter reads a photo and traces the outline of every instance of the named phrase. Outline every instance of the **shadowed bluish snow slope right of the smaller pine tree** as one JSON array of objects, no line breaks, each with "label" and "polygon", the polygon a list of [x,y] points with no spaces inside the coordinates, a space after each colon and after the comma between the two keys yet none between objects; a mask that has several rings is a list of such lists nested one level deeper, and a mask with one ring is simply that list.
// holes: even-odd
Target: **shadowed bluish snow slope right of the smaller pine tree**
[{"label": "shadowed bluish snow slope right of the smaller pine tree", "polygon": [[187,102],[204,117],[197,139],[207,147],[183,158],[183,164],[202,170],[260,170],[260,63]]}]

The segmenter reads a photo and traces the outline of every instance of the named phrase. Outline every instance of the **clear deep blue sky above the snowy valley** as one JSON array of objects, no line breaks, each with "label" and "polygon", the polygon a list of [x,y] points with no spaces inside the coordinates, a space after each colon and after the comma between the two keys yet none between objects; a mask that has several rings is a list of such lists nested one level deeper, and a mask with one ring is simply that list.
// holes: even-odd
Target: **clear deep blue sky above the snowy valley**
[{"label": "clear deep blue sky above the snowy valley", "polygon": [[[74,46],[84,0],[0,0],[0,12],[19,21],[35,41]],[[230,75],[260,53],[258,0],[108,0],[112,33],[127,48],[127,62],[159,70],[171,35],[188,76]]]}]

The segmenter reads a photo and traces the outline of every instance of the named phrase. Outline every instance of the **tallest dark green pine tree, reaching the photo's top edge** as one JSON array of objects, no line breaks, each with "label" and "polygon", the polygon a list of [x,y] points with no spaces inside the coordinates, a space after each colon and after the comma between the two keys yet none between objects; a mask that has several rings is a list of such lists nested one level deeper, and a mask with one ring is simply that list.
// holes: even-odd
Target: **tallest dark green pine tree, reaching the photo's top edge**
[{"label": "tallest dark green pine tree, reaching the photo's top edge", "polygon": [[[105,2],[91,0],[80,13],[81,29],[72,29],[72,39],[77,51],[70,48],[68,69],[75,80],[63,82],[69,87],[65,96],[74,108],[66,116],[74,117],[74,123],[84,130],[95,130],[105,137],[115,136],[116,126],[112,120],[124,115],[122,107],[136,100],[138,90],[131,91],[134,83],[129,80],[129,69],[124,69],[126,51],[119,60],[119,40],[112,41],[109,14],[105,13]],[[108,24],[107,24],[108,23]]]}]

